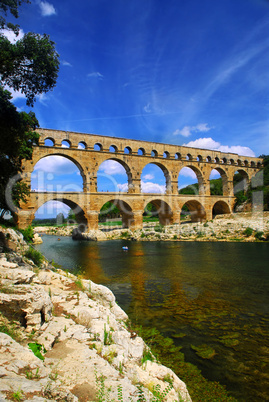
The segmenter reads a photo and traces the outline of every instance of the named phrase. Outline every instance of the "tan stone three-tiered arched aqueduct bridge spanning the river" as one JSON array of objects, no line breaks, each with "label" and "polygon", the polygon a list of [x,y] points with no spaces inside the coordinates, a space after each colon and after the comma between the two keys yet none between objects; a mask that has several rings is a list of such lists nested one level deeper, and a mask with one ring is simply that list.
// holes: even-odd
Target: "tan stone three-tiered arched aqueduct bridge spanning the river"
[{"label": "tan stone three-tiered arched aqueduct bridge spanning the river", "polygon": [[[39,129],[38,133],[39,145],[34,148],[32,160],[23,161],[24,181],[30,185],[31,173],[40,159],[61,155],[79,168],[83,192],[31,191],[27,203],[22,204],[17,212],[17,223],[21,228],[31,224],[37,209],[50,200],[67,204],[74,210],[78,221],[89,228],[97,228],[98,214],[107,201],[115,202],[121,210],[123,226],[131,229],[142,227],[143,211],[149,202],[158,208],[159,220],[163,225],[179,223],[184,204],[188,206],[193,221],[209,220],[215,214],[232,212],[235,202],[234,173],[240,172],[245,183],[249,184],[262,167],[262,159],[234,153],[50,129]],[[52,141],[52,146],[45,145],[47,139]],[[97,191],[97,171],[106,160],[117,161],[125,168],[128,192]],[[149,163],[159,166],[163,171],[166,178],[165,194],[141,193],[142,170]],[[195,172],[199,194],[178,194],[178,175],[183,167]],[[213,169],[222,177],[223,196],[210,195],[209,177]]]}]

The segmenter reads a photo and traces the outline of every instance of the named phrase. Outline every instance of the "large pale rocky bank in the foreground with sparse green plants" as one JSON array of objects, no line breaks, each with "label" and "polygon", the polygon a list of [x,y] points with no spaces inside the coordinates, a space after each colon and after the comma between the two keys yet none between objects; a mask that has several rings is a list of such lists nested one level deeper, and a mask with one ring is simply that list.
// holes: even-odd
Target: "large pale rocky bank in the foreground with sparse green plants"
[{"label": "large pale rocky bank in the foreground with sparse green plants", "polygon": [[0,400],[191,402],[109,289],[55,269],[13,229],[0,242]]}]

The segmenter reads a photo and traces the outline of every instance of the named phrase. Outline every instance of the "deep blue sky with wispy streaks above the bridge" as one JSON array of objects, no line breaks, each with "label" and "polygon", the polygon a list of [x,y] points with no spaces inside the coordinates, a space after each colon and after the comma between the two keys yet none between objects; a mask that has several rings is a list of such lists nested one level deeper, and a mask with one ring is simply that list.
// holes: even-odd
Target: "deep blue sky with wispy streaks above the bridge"
[{"label": "deep blue sky with wispy streaks above the bridge", "polygon": [[41,127],[268,154],[268,0],[32,0],[18,23],[60,55]]}]

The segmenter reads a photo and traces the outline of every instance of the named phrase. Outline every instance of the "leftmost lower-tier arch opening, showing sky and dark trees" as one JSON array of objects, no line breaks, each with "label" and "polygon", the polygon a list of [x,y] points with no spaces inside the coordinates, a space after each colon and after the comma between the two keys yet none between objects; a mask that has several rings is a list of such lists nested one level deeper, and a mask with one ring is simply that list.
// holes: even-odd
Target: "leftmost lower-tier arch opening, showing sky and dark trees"
[{"label": "leftmost lower-tier arch opening, showing sky and dark trees", "polygon": [[53,198],[45,202],[35,212],[34,225],[79,225],[81,232],[86,230],[87,219],[83,209],[66,198]]}]

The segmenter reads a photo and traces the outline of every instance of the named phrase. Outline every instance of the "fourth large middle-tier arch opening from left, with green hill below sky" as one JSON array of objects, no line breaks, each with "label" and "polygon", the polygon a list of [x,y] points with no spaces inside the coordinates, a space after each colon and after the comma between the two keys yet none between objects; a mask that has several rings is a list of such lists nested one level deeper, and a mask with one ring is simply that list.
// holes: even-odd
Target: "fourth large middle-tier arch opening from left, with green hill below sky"
[{"label": "fourth large middle-tier arch opening from left, with green hill below sky", "polygon": [[203,175],[195,166],[183,167],[178,175],[178,193],[179,194],[204,194],[205,188]]}]

